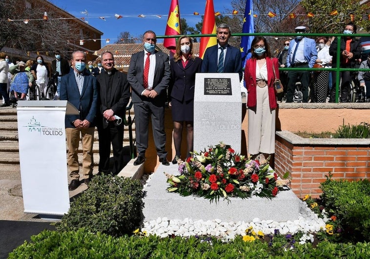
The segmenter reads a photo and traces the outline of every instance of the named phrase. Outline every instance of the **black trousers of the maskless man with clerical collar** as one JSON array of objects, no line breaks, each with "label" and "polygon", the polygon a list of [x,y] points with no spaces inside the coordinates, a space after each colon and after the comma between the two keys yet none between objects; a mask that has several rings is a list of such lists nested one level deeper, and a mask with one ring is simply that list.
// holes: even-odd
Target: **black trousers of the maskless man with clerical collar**
[{"label": "black trousers of the maskless man with clerical collar", "polygon": [[110,143],[113,148],[113,169],[112,173],[117,175],[123,168],[123,125],[116,126],[109,122],[106,128],[98,125],[99,136],[99,172],[110,173]]}]

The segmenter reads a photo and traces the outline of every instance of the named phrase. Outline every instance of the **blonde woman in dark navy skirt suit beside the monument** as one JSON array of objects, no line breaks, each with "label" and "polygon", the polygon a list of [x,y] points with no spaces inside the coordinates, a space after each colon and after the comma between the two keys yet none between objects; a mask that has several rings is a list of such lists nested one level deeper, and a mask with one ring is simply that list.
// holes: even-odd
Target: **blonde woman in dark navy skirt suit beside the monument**
[{"label": "blonde woman in dark navy skirt suit beside the monument", "polygon": [[186,125],[186,158],[193,151],[193,121],[194,121],[194,87],[195,74],[201,72],[202,60],[193,54],[193,42],[187,36],[179,38],[176,53],[170,60],[171,81],[168,96],[169,107],[172,108],[173,142],[176,155],[173,164],[181,157],[181,141],[183,125]]}]

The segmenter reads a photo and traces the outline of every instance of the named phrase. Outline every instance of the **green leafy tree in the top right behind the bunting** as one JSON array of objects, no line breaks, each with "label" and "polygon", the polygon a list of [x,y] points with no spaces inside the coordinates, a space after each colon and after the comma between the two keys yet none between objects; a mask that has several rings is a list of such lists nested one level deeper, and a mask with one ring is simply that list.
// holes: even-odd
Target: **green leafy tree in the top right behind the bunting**
[{"label": "green leafy tree in the top right behind the bunting", "polygon": [[[351,14],[358,28],[370,29],[369,7],[360,5],[358,0],[302,0],[301,5],[306,12],[314,14],[306,20],[312,33],[341,33],[344,25],[351,20]],[[337,10],[338,14],[330,15],[333,10]]]}]

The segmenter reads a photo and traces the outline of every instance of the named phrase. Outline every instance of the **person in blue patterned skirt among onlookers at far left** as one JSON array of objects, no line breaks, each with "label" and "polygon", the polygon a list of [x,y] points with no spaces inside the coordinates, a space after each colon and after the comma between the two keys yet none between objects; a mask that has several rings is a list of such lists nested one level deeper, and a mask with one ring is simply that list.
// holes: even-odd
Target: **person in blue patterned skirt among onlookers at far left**
[{"label": "person in blue patterned skirt among onlookers at far left", "polygon": [[[16,100],[25,100],[28,93],[28,88],[32,87],[34,77],[29,71],[25,71],[26,63],[23,61],[9,68],[9,72],[13,75],[13,80],[10,83],[10,91],[14,91],[14,97]],[[21,98],[18,99],[18,93],[21,94]]]}]

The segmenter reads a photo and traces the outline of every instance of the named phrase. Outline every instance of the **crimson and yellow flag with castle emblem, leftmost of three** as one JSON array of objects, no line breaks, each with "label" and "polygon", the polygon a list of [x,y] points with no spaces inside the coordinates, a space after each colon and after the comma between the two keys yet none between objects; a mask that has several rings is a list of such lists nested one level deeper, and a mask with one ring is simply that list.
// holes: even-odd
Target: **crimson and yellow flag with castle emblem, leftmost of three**
[{"label": "crimson and yellow flag with castle emblem, leftmost of three", "polygon": [[[164,35],[180,35],[180,11],[179,11],[179,1],[172,0],[168,12],[168,20],[166,31]],[[176,39],[175,38],[166,38],[163,41],[163,46],[169,49],[172,53],[176,52]]]}]

